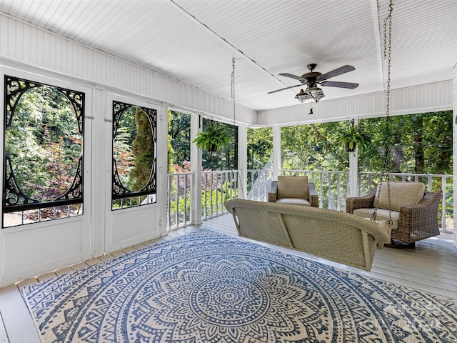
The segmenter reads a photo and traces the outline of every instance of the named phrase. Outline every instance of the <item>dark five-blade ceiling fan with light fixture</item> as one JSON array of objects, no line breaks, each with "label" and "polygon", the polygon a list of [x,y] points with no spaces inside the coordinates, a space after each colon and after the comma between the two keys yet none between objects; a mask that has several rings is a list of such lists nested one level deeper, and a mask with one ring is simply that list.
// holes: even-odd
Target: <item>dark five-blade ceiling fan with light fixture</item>
[{"label": "dark five-blade ceiling fan with light fixture", "polygon": [[[276,89],[276,91],[283,91],[284,89],[291,89],[298,86],[306,85],[306,89],[300,90],[300,92],[295,96],[298,101],[303,102],[307,99],[313,99],[314,101],[318,102],[320,99],[324,97],[322,89],[320,89],[317,85],[320,84],[321,86],[330,86],[330,87],[339,87],[339,88],[348,88],[354,89],[358,87],[358,84],[353,82],[341,82],[341,81],[326,81],[327,79],[331,79],[332,77],[348,73],[349,71],[356,70],[353,66],[340,66],[337,69],[332,71],[328,71],[326,74],[319,73],[318,71],[313,71],[316,69],[317,64],[308,64],[307,68],[309,72],[303,74],[301,76],[296,76],[293,74],[288,73],[281,73],[281,76],[291,77],[292,79],[297,79],[301,82],[301,84],[296,84],[295,86],[290,86],[286,88]],[[276,91],[268,91],[268,94],[276,93]]]}]

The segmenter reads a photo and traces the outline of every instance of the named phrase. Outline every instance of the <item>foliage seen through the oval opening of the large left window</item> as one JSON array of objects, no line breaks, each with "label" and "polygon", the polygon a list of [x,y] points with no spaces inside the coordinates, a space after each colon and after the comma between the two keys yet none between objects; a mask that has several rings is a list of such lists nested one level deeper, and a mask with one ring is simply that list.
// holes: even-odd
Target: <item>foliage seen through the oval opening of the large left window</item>
[{"label": "foliage seen through the oval opening of the large left window", "polygon": [[26,91],[5,131],[5,152],[28,197],[46,202],[64,194],[82,155],[82,136],[69,99],[51,86]]}]

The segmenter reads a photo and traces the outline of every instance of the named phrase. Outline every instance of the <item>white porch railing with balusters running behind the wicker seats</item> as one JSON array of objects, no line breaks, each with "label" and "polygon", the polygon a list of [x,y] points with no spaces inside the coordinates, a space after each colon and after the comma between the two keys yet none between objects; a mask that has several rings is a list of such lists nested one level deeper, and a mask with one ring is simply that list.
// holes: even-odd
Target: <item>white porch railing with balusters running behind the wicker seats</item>
[{"label": "white porch railing with balusters running behind the wicker seats", "polygon": [[[282,175],[305,175],[316,186],[319,196],[319,207],[346,210],[348,194],[348,172],[281,170]],[[268,191],[273,178],[272,170],[248,169],[247,190],[242,194],[246,199],[266,202]],[[378,184],[381,173],[358,173],[358,192],[363,195],[373,185]],[[453,176],[441,174],[389,174],[391,181],[419,181],[426,184],[429,192],[441,192],[438,220],[441,231],[452,232],[452,225],[446,222],[453,220]],[[191,173],[169,174],[169,207],[168,229],[177,229],[192,223],[191,213]],[[211,171],[201,174],[201,219],[210,219],[226,213],[224,204],[227,200],[238,196],[239,173],[236,170]],[[447,219],[447,220],[446,220]]]}]

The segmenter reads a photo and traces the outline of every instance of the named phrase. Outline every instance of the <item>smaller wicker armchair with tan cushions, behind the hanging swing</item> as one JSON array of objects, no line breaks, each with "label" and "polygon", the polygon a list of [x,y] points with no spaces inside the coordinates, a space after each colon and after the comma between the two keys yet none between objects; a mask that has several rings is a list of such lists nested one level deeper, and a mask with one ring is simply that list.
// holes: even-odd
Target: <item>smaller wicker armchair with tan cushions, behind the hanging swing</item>
[{"label": "smaller wicker armchair with tan cushions, behind the hanging swing", "polygon": [[278,181],[271,182],[268,202],[319,207],[316,188],[308,177],[278,177]]}]

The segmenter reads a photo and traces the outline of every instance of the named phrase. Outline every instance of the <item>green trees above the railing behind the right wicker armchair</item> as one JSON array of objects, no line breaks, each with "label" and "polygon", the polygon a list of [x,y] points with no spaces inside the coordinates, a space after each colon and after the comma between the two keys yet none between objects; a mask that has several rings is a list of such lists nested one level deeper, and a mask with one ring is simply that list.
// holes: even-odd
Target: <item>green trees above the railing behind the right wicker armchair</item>
[{"label": "green trees above the railing behind the right wicker armchair", "polygon": [[452,111],[360,119],[377,149],[359,154],[362,172],[383,170],[385,146],[388,171],[452,174]]}]

